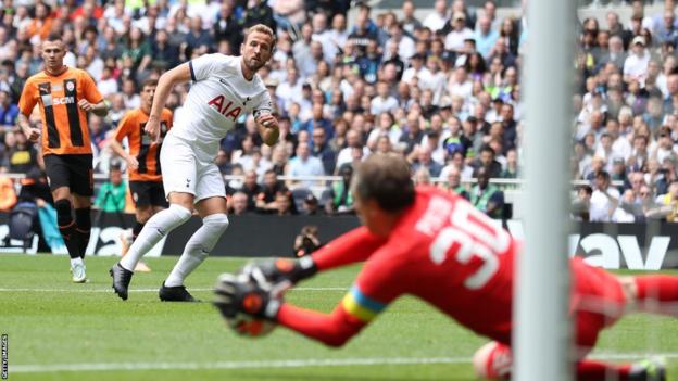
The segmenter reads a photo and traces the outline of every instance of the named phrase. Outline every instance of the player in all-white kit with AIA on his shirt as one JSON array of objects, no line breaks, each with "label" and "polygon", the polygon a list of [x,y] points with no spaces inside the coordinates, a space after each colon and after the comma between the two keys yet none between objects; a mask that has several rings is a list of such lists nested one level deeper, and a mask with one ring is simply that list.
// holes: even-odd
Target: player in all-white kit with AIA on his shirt
[{"label": "player in all-white kit with AIA on his shirt", "polygon": [[226,187],[214,164],[219,141],[242,113],[253,113],[264,143],[273,145],[278,140],[271,97],[256,74],[271,59],[275,42],[269,27],[254,25],[247,30],[240,56],[205,54],[160,77],[145,131],[158,139],[160,114],[172,88],[192,80],[185,103],[188,113],[177,118],[160,153],[170,207],[148,220],[127,255],[110,270],[113,289],[121,299],[127,300],[133,269],[141,256],[186,223],[194,207],[202,226],[186,243],[159,292],[161,301],[194,301],[184,280],[208,257],[228,227]]}]

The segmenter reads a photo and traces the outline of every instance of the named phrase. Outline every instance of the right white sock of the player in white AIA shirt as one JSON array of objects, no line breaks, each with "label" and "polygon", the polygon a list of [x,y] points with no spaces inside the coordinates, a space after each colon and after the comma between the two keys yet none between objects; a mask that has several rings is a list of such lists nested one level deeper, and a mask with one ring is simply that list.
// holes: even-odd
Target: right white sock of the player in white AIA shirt
[{"label": "right white sock of the player in white AIA shirt", "polygon": [[225,214],[211,214],[202,219],[202,226],[196,230],[186,243],[179,262],[165,280],[166,287],[184,284],[184,280],[210,255],[224,231],[228,228],[228,217]]}]

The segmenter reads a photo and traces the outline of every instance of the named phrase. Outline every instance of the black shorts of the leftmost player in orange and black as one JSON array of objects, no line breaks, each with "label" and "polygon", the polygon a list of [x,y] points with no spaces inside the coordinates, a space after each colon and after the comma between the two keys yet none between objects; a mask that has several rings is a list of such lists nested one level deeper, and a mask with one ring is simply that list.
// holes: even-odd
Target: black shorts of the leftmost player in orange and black
[{"label": "black shorts of the leftmost player in orange and black", "polygon": [[78,195],[95,194],[92,155],[45,155],[45,172],[50,190],[68,187],[71,193]]}]

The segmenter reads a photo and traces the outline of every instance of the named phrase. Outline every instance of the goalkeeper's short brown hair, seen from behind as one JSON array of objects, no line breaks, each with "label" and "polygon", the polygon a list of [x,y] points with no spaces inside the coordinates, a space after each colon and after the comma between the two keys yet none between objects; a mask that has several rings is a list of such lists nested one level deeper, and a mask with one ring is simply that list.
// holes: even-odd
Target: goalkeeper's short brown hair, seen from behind
[{"label": "goalkeeper's short brown hair, seen from behind", "polygon": [[374,200],[386,212],[400,212],[414,203],[410,166],[394,154],[371,155],[357,166],[353,192],[364,201]]}]

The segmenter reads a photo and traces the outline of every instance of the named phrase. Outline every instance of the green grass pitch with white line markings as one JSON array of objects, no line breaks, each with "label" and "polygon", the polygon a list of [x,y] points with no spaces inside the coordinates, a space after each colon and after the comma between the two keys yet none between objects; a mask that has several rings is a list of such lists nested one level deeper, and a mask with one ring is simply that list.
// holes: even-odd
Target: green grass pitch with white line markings
[{"label": "green grass pitch with white line markings", "polygon": [[[108,268],[115,261],[88,258],[90,282],[72,284],[65,256],[0,255],[0,333],[9,334],[10,380],[469,380],[468,358],[486,342],[412,297],[399,300],[340,350],[282,328],[244,339],[225,328],[209,303],[158,300],[176,257],[149,259],[153,271],[135,275],[127,302],[110,289]],[[210,258],[187,287],[209,301],[217,275],[242,263]],[[323,274],[287,299],[329,312],[356,271]],[[632,315],[603,334],[599,354],[670,354],[677,331],[675,319]],[[674,356],[669,374],[678,374]],[[373,364],[356,364],[361,359]],[[420,364],[425,359],[434,364]]]}]

